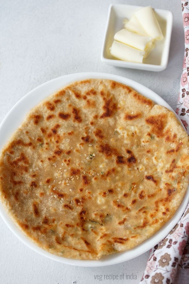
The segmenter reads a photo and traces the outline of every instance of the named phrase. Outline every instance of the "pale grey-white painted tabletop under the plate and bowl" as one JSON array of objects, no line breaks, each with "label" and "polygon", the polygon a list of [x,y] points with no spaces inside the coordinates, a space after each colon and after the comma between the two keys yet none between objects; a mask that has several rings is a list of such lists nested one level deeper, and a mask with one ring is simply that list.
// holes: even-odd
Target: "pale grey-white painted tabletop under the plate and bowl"
[{"label": "pale grey-white painted tabletop under the plate and bowl", "polygon": [[[0,0],[0,122],[28,91],[55,77],[100,71],[133,79],[162,96],[175,109],[184,52],[181,2],[151,0],[171,10],[173,32],[167,68],[159,73],[115,68],[100,61],[111,0]],[[147,0],[122,1],[147,6]],[[0,218],[0,283],[77,284],[140,281],[148,253],[109,267],[80,268],[46,259],[22,244]],[[137,280],[95,280],[94,274],[137,274]]]}]

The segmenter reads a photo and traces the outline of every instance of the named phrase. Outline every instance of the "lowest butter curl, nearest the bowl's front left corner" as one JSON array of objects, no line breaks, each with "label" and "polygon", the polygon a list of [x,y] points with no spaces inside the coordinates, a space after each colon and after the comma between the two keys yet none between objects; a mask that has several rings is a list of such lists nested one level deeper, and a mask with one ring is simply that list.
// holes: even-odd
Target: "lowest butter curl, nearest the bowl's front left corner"
[{"label": "lowest butter curl, nearest the bowl's front left corner", "polygon": [[121,60],[139,63],[142,63],[145,56],[145,51],[138,50],[116,40],[113,41],[110,47],[110,53]]}]

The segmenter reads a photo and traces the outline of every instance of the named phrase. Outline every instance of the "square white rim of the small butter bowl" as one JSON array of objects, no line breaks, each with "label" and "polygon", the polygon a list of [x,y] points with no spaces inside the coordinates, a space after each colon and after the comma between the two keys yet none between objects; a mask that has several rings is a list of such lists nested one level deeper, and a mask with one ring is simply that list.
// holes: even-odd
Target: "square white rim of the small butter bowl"
[{"label": "square white rim of the small butter bowl", "polygon": [[160,65],[123,61],[123,60],[110,59],[110,58],[105,57],[104,52],[106,48],[106,38],[108,35],[108,27],[110,24],[110,16],[111,16],[112,9],[114,7],[122,7],[122,6],[133,7],[136,9],[145,7],[145,6],[127,5],[127,4],[113,4],[113,3],[110,4],[108,8],[108,17],[106,21],[106,28],[105,28],[103,44],[102,44],[102,49],[101,49],[101,61],[106,64],[113,65],[113,66],[119,66],[122,68],[133,68],[133,69],[157,71],[157,72],[165,70],[167,68],[167,64],[169,60],[169,50],[170,50],[171,34],[172,34],[172,26],[173,26],[173,13],[170,10],[154,8],[154,11],[159,14],[163,12],[164,14],[169,15],[169,20],[167,21],[169,22],[169,25],[167,25],[167,34],[166,34],[166,40],[164,43],[164,49],[166,50],[166,59],[162,61]]}]

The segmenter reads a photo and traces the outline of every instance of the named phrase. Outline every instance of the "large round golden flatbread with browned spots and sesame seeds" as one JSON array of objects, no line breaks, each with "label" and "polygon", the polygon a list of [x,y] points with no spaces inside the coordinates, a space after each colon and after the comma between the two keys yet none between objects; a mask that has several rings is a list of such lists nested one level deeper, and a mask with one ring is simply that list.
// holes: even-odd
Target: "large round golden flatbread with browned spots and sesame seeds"
[{"label": "large round golden flatbread with browned spots and sesame seeds", "polygon": [[74,82],[34,107],[0,156],[0,198],[50,253],[129,250],[175,213],[189,140],[175,115],[111,80]]}]

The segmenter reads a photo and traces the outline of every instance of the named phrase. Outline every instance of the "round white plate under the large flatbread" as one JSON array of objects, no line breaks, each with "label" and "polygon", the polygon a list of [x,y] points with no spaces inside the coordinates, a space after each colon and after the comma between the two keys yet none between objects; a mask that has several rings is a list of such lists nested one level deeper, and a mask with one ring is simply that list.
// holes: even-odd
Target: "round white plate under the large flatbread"
[{"label": "round white plate under the large flatbread", "polygon": [[[148,89],[147,87],[124,77],[120,77],[117,75],[111,75],[106,73],[76,73],[71,75],[65,75],[63,77],[56,78],[54,80],[48,81],[39,87],[35,88],[33,91],[29,92],[25,95],[17,104],[8,112],[6,117],[3,119],[0,125],[0,149],[3,145],[9,140],[10,136],[14,133],[17,127],[22,123],[24,117],[28,113],[31,108],[35,107],[38,103],[40,103],[44,98],[51,95],[52,93],[58,91],[59,89],[63,88],[65,85],[74,82],[76,80],[83,80],[88,78],[104,78],[115,80],[117,82],[129,85],[133,87],[136,91],[140,92],[147,98],[152,99],[155,103],[163,105],[167,107],[169,110],[172,108],[156,93]],[[173,111],[173,110],[172,110]],[[175,114],[176,115],[176,114]],[[178,117],[177,117],[178,118]],[[11,220],[11,218],[6,213],[3,205],[0,202],[0,214],[7,226],[10,230],[24,243],[26,246],[30,247],[34,251],[49,257],[53,260],[57,260],[62,263],[72,264],[77,266],[85,266],[85,267],[95,267],[95,266],[106,266],[111,264],[116,264],[120,262],[124,262],[126,260],[130,260],[131,258],[137,257],[142,253],[145,253],[150,248],[155,246],[159,241],[161,241],[176,225],[179,221],[189,199],[189,187],[186,192],[186,195],[177,209],[174,216],[168,221],[156,234],[152,237],[143,241],[140,245],[132,248],[129,251],[123,253],[117,253],[113,255],[109,255],[103,257],[101,260],[74,260],[68,259],[64,257],[60,257],[57,255],[53,255],[44,251],[42,248],[35,245],[30,239],[28,239],[15,225],[15,223]]]}]

